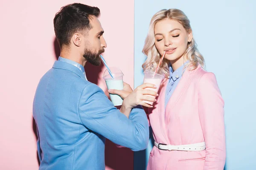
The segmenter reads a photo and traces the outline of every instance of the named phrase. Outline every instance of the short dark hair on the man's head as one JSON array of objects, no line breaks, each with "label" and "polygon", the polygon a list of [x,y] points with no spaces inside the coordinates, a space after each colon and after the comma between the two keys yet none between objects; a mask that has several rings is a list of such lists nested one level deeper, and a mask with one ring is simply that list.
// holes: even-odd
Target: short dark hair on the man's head
[{"label": "short dark hair on the man's head", "polygon": [[97,7],[87,6],[81,3],[73,3],[61,7],[53,19],[55,36],[60,48],[70,45],[71,37],[77,31],[90,30],[92,16],[99,17],[100,10]]}]

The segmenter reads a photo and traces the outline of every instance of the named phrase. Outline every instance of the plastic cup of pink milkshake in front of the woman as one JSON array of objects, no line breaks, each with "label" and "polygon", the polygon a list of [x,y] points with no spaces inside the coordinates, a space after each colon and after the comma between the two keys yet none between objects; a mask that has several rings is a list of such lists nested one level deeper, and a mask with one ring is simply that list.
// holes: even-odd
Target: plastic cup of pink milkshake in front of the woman
[{"label": "plastic cup of pink milkshake in front of the woman", "polygon": [[[157,88],[145,88],[145,90],[152,90],[152,91],[158,92],[163,79],[164,79],[163,75],[155,74],[154,71],[152,70],[145,70],[143,83],[151,83],[157,87]],[[151,95],[146,95],[146,96],[151,96]],[[151,97],[154,98],[154,96],[151,96]],[[149,105],[153,105],[153,102],[148,102],[145,100],[143,102],[148,103]]]}]

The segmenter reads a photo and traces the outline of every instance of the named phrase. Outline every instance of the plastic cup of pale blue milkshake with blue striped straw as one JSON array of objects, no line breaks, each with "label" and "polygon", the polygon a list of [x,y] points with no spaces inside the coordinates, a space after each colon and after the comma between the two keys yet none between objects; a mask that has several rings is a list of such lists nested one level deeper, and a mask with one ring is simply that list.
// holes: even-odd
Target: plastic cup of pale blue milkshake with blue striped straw
[{"label": "plastic cup of pale blue milkshake with blue striped straw", "polygon": [[[123,73],[119,68],[116,67],[110,67],[109,68],[111,73],[113,74],[113,77],[108,72],[108,69],[105,70],[103,79],[105,79],[106,85],[108,89],[116,89],[116,90],[122,90],[124,88],[123,84]],[[123,99],[117,95],[117,94],[109,94],[111,102],[114,106],[122,105]]]}]

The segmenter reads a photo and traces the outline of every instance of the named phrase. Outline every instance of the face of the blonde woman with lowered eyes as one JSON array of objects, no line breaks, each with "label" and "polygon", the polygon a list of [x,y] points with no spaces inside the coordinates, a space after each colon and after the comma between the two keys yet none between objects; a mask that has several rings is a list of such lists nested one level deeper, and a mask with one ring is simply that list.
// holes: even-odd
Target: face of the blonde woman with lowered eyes
[{"label": "face of the blonde woman with lowered eyes", "polygon": [[178,60],[183,61],[183,54],[187,44],[192,40],[192,33],[187,33],[185,28],[176,20],[160,20],[154,27],[155,45],[161,55],[166,51],[165,58],[171,64]]}]

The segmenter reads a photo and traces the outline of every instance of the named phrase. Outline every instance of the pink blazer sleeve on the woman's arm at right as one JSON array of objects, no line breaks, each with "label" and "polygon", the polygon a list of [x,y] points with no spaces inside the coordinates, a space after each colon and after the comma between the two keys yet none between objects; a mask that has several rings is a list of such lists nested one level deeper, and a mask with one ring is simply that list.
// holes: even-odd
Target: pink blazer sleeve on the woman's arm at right
[{"label": "pink blazer sleeve on the woman's arm at right", "polygon": [[213,73],[198,86],[198,111],[206,144],[204,170],[223,170],[226,159],[224,101]]}]

